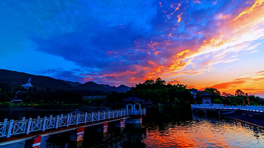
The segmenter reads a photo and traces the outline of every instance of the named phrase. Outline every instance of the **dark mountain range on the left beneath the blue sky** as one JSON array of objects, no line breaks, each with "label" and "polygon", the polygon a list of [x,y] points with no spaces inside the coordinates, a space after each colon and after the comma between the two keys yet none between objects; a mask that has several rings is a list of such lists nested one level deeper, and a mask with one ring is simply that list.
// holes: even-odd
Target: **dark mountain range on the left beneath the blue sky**
[{"label": "dark mountain range on the left beneath the blue sky", "polygon": [[126,92],[130,90],[130,87],[125,85],[110,86],[108,84],[97,84],[92,81],[84,84],[79,82],[65,81],[61,79],[55,79],[42,75],[31,75],[28,73],[11,71],[0,69],[0,82],[9,82],[15,84],[27,83],[29,77],[31,77],[31,84],[33,86],[39,86],[50,89],[66,89],[66,90],[99,90],[99,91],[118,91]]}]

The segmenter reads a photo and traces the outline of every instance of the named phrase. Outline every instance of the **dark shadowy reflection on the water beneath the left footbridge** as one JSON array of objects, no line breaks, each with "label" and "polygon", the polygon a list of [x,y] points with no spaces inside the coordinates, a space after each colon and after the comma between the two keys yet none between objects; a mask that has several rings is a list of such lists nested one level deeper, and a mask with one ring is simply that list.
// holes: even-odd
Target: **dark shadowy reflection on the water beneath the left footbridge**
[{"label": "dark shadowy reflection on the water beneath the left footbridge", "polygon": [[[48,136],[41,146],[48,148],[70,148],[70,147],[145,147],[142,140],[146,137],[146,128],[142,128],[142,124],[129,125],[121,131],[120,128],[115,128],[114,125],[108,125],[108,137],[103,139],[103,134],[96,132],[96,128],[87,128],[84,140],[79,142],[72,142],[69,140],[69,133],[60,133]],[[45,139],[45,137],[43,137]]]}]

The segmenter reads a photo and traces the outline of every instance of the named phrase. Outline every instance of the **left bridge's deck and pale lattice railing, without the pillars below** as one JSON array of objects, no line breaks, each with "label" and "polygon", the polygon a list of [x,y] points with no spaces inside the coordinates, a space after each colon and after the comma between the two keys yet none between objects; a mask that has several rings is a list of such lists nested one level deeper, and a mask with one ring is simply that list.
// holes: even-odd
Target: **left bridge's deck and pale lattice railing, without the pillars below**
[{"label": "left bridge's deck and pale lattice railing, without the pillars below", "polygon": [[146,115],[146,109],[141,110],[113,110],[108,112],[91,112],[77,115],[58,115],[49,118],[23,118],[19,121],[4,119],[0,123],[0,145],[31,139],[36,135],[47,136],[50,134],[71,131],[78,127],[99,125],[104,122],[117,121],[121,118],[130,118],[132,115]]}]

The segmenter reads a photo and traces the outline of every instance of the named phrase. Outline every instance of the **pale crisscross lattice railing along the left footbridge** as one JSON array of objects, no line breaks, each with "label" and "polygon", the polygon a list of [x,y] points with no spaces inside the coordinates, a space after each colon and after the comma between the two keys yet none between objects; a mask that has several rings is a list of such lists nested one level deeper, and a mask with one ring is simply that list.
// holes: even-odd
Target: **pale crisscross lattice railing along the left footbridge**
[{"label": "pale crisscross lattice railing along the left footbridge", "polygon": [[52,128],[61,128],[61,127],[69,127],[72,125],[78,125],[78,124],[86,124],[89,122],[99,122],[101,120],[106,119],[114,119],[119,118],[123,116],[128,115],[143,115],[146,114],[146,109],[141,110],[112,110],[107,112],[91,112],[91,113],[85,113],[77,115],[57,115],[56,117],[53,117],[50,115],[50,117],[44,117],[40,118],[38,116],[36,119],[25,119],[23,117],[22,120],[14,121],[10,120],[7,121],[7,119],[4,119],[4,122],[0,123],[0,137],[7,137],[9,138],[12,135],[17,134],[29,134],[30,132],[34,131],[45,131],[47,129]]}]

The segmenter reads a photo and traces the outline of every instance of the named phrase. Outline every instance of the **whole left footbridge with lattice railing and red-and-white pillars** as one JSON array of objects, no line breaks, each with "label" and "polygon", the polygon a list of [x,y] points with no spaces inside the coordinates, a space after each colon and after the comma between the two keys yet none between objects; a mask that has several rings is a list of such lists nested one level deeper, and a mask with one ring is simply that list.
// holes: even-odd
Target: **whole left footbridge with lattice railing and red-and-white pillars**
[{"label": "whole left footbridge with lattice railing and red-and-white pillars", "polygon": [[[43,136],[63,132],[69,132],[67,134],[68,139],[73,141],[74,145],[76,145],[76,142],[79,145],[84,138],[85,127],[95,129],[95,131],[88,132],[86,135],[95,136],[99,133],[102,134],[102,137],[99,139],[106,140],[111,137],[111,134],[108,134],[108,126],[111,127],[112,125],[119,130],[119,133],[123,133],[125,122],[133,124],[142,123],[142,116],[145,115],[146,109],[121,109],[109,110],[107,112],[91,112],[90,114],[76,111],[75,114],[61,114],[55,118],[50,115],[49,118],[40,118],[38,116],[36,119],[29,118],[26,120],[23,118],[18,121],[7,121],[5,119],[4,122],[0,123],[0,145],[26,140],[25,147],[40,147]],[[67,147],[67,144],[64,147]]]}]

